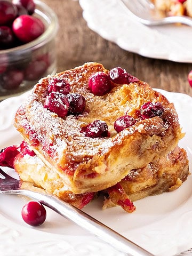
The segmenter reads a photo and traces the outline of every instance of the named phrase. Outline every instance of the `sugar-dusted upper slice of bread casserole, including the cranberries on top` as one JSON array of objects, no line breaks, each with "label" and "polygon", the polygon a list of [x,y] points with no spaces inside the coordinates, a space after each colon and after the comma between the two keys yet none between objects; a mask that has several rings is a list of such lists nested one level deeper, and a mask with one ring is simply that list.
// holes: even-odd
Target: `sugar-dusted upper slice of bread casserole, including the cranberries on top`
[{"label": "sugar-dusted upper slice of bread casserole, including the cranberries on top", "polygon": [[175,108],[161,93],[119,67],[109,71],[93,62],[41,79],[14,125],[75,194],[116,185],[183,137]]}]

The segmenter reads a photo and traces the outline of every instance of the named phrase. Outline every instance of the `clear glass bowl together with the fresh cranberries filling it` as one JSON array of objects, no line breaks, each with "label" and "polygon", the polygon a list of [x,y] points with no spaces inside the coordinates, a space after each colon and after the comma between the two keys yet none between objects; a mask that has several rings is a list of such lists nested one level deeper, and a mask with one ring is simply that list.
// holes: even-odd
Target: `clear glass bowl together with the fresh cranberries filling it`
[{"label": "clear glass bowl together with the fresh cranberries filling it", "polygon": [[58,19],[38,0],[0,0],[0,101],[56,72]]}]

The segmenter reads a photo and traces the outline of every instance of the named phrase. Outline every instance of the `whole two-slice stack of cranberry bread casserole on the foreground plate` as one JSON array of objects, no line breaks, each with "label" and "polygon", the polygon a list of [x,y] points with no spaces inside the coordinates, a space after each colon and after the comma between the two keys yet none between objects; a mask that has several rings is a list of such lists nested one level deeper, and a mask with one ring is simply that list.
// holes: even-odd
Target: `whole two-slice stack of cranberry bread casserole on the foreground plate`
[{"label": "whole two-slice stack of cranberry bread casserole on the foreground plate", "polygon": [[82,208],[103,195],[103,207],[181,186],[189,175],[173,103],[120,67],[89,62],[42,78],[17,110],[23,137],[2,150],[0,165]]}]

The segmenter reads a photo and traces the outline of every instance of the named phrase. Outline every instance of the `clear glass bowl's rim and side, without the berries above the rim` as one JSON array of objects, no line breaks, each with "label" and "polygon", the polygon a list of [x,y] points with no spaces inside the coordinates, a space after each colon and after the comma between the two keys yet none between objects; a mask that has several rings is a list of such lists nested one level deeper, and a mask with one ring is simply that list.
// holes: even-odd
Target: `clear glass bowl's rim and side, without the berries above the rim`
[{"label": "clear glass bowl's rim and side, without the berries above the rim", "polygon": [[40,78],[57,71],[57,15],[45,3],[34,2],[33,15],[43,21],[45,31],[30,43],[0,50],[0,101],[31,89]]}]

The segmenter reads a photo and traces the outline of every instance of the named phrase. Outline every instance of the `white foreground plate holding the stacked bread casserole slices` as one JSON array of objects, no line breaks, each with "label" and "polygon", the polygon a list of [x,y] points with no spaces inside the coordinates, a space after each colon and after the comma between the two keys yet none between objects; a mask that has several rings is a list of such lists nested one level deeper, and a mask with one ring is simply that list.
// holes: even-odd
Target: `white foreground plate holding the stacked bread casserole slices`
[{"label": "white foreground plate holding the stacked bread casserole slices", "polygon": [[[188,152],[191,170],[192,99],[186,94],[160,91],[175,103],[183,132],[186,132],[180,146]],[[25,97],[23,94],[0,103],[1,148],[21,140],[12,120]],[[191,182],[192,175],[176,191],[135,202],[137,211],[132,214],[120,207],[102,211],[100,201],[90,203],[84,211],[155,255],[173,255],[192,247]],[[49,209],[42,226],[27,226],[21,219],[21,208],[26,202],[23,197],[1,195],[0,202],[0,251],[3,256],[124,255]]]}]

